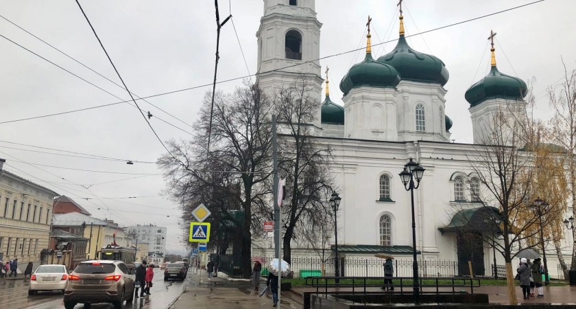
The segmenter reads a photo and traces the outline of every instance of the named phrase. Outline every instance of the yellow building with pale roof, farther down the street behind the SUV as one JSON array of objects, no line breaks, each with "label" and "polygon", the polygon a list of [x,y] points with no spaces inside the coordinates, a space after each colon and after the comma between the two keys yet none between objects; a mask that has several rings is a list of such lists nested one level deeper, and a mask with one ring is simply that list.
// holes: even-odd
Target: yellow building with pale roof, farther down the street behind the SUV
[{"label": "yellow building with pale roof, farther down the street behind the SUV", "polygon": [[116,239],[118,246],[127,248],[132,246],[132,238],[126,235],[124,228],[109,220],[100,220],[79,212],[54,215],[54,224],[60,227],[80,226],[82,223],[86,224],[84,237],[88,238],[86,259],[96,258],[97,251],[100,251],[102,247],[106,247],[108,244],[112,244],[114,239]]}]

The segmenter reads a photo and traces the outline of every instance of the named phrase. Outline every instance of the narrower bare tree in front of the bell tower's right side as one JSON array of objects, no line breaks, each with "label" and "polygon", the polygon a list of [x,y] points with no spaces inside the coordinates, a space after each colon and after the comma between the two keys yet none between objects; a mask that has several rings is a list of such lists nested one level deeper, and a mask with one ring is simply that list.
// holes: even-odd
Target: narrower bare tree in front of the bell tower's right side
[{"label": "narrower bare tree in front of the bell tower's right side", "polygon": [[[313,135],[312,124],[320,102],[311,98],[308,79],[300,76],[290,87],[280,89],[274,100],[280,130],[279,170],[286,179],[284,205],[284,260],[291,260],[291,242],[302,235],[297,231],[305,224],[320,224],[315,220],[331,213],[326,196],[332,194],[330,172],[331,150]],[[313,222],[313,223],[312,223]]]}]

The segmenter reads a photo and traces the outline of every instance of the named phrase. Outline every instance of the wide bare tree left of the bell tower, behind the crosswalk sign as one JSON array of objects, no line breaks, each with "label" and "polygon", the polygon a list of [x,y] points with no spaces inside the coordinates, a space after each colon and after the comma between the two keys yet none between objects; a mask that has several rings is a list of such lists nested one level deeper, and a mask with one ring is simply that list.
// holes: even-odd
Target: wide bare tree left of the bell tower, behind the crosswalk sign
[{"label": "wide bare tree left of the bell tower, behind the crosswalk sign", "polygon": [[[191,141],[169,141],[171,154],[158,159],[167,193],[180,203],[184,218],[206,203],[241,239],[243,277],[250,277],[252,223],[271,192],[271,103],[259,87],[245,84],[234,93],[206,93]],[[211,131],[210,119],[212,118]],[[208,135],[211,148],[207,149]]]}]

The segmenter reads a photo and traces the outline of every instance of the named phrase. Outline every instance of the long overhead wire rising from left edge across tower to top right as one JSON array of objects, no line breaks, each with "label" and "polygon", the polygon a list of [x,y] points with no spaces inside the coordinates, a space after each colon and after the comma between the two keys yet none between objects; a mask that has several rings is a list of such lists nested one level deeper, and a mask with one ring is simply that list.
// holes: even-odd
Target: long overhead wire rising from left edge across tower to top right
[{"label": "long overhead wire rising from left edge across tower to top right", "polygon": [[[503,12],[509,12],[509,11],[511,11],[511,10],[516,10],[516,9],[518,9],[518,8],[524,8],[524,7],[528,6],[528,5],[533,5],[533,4],[536,4],[536,3],[540,3],[540,2],[542,2],[542,1],[545,1],[545,0],[538,0],[538,1],[533,1],[533,2],[530,2],[530,3],[525,3],[525,4],[523,4],[523,5],[518,5],[518,6],[515,6],[515,7],[513,7],[513,8],[508,8],[508,9],[506,9],[506,10],[501,10],[501,11],[498,11],[498,12],[493,12],[493,13],[490,13],[490,14],[485,14],[485,15],[483,15],[483,16],[478,16],[478,17],[475,17],[475,18],[473,18],[473,19],[466,19],[465,21],[459,21],[459,22],[457,22],[457,23],[451,23],[451,24],[449,24],[449,25],[444,25],[444,26],[442,26],[442,27],[436,27],[436,28],[433,28],[433,29],[431,29],[431,30],[426,30],[426,31],[424,31],[424,32],[420,32],[420,33],[416,33],[416,34],[410,34],[409,36],[405,36],[405,37],[418,36],[418,35],[426,34],[426,33],[429,33],[429,32],[433,32],[433,31],[437,31],[437,30],[442,30],[442,29],[445,29],[445,28],[447,28],[447,27],[453,27],[453,26],[455,26],[455,25],[461,25],[461,24],[463,24],[463,23],[468,23],[468,22],[470,22],[470,21],[477,21],[478,19],[483,19],[483,18],[486,18],[486,17],[489,17],[489,16],[494,16],[494,15],[496,15],[496,14],[501,14],[501,13],[503,13]],[[392,32],[391,32],[391,33],[392,33]],[[383,44],[387,44],[387,43],[391,43],[391,42],[394,42],[394,41],[398,41],[398,38],[395,38],[395,39],[392,39],[392,40],[389,40],[389,41],[385,41],[385,42],[382,42],[382,43],[374,44],[374,45],[372,45],[372,47],[374,47],[374,46],[379,46],[379,45],[383,45]],[[347,52],[340,52],[340,53],[337,53],[337,54],[331,54],[331,55],[324,56],[324,57],[320,57],[320,58],[313,59],[313,60],[302,61],[302,62],[296,63],[296,64],[294,64],[294,65],[288,65],[288,66],[286,66],[286,67],[281,67],[281,68],[278,68],[278,69],[272,69],[272,70],[269,70],[269,71],[254,73],[254,74],[251,74],[251,75],[248,75],[248,76],[239,76],[239,77],[237,77],[237,78],[230,78],[230,79],[228,79],[228,80],[221,80],[221,81],[215,82],[215,83],[216,83],[216,84],[221,84],[221,83],[224,83],[224,82],[232,82],[232,81],[235,81],[235,80],[241,80],[241,79],[243,79],[243,78],[250,78],[251,76],[258,76],[259,74],[263,74],[263,73],[270,73],[270,72],[274,72],[274,71],[282,71],[283,69],[289,69],[289,68],[291,68],[291,67],[296,67],[296,66],[299,66],[299,65],[306,65],[306,64],[309,63],[309,62],[317,62],[318,60],[324,60],[324,59],[327,59],[327,58],[333,58],[333,57],[341,56],[341,55],[344,55],[344,54],[350,54],[350,53],[352,53],[352,52],[358,52],[359,50],[362,50],[362,49],[364,49],[364,48],[352,49],[352,50],[349,50],[349,51],[347,51]],[[353,61],[353,60],[352,60],[352,61]],[[351,65],[350,65],[350,66],[351,66]],[[161,96],[161,95],[169,95],[169,94],[173,94],[173,93],[178,93],[178,92],[182,92],[182,91],[189,91],[189,90],[199,89],[199,88],[208,87],[208,86],[213,86],[213,83],[211,82],[211,83],[209,83],[209,84],[201,84],[201,85],[198,85],[198,86],[188,87],[188,88],[184,88],[184,89],[178,89],[178,90],[175,90],[175,91],[168,91],[168,92],[165,92],[165,93],[158,93],[158,94],[156,94],[156,95],[148,95],[148,96],[142,97],[142,99],[154,98],[154,97],[158,97],[158,96]],[[140,99],[136,99],[136,100],[140,100]],[[78,112],[78,111],[86,111],[86,110],[89,110],[89,109],[101,108],[101,107],[106,107],[106,106],[112,106],[112,105],[115,105],[115,104],[121,104],[121,103],[125,103],[125,102],[130,102],[130,100],[122,101],[122,102],[115,102],[115,103],[110,103],[110,104],[102,104],[102,105],[92,106],[92,107],[88,107],[88,108],[81,108],[81,109],[78,109],[78,110],[75,110],[75,111],[66,111],[66,112],[54,113],[54,114],[49,114],[49,115],[40,115],[40,116],[36,116],[36,117],[27,117],[27,118],[23,118],[23,119],[14,119],[14,120],[10,120],[10,121],[0,122],[0,124],[7,124],[7,123],[11,123],[11,122],[21,122],[21,121],[30,120],[30,119],[38,119],[38,118],[43,118],[43,117],[51,117],[51,116],[62,115],[62,114],[67,114],[67,113],[75,113],[75,112]]]}]

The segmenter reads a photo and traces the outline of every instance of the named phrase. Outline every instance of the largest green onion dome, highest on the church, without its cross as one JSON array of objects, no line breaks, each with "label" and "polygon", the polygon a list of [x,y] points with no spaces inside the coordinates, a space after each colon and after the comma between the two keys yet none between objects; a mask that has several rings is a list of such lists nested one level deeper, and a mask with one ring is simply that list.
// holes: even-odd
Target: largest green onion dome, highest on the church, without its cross
[{"label": "largest green onion dome, highest on the church, without its cross", "polygon": [[436,82],[444,86],[450,78],[442,60],[414,50],[403,35],[398,38],[398,44],[392,52],[380,56],[378,62],[392,65],[400,73],[402,80]]}]

